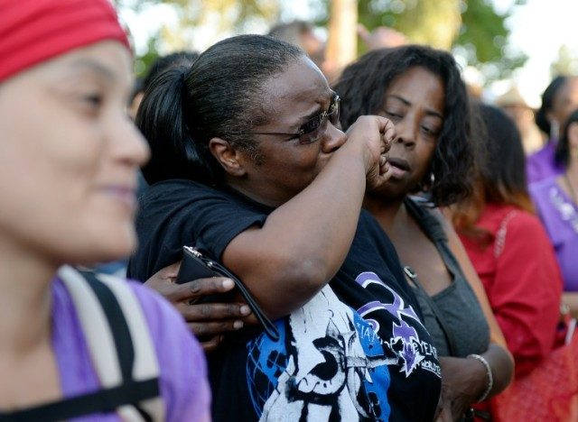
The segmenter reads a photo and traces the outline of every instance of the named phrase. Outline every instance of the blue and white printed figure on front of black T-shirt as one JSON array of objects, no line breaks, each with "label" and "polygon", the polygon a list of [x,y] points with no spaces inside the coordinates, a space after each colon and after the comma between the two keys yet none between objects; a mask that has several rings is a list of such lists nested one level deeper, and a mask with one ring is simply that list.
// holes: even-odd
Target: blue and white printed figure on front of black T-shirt
[{"label": "blue and white printed figure on front of black T-shirt", "polygon": [[280,340],[247,344],[247,381],[262,421],[387,420],[388,364],[378,335],[326,286],[276,322]]}]

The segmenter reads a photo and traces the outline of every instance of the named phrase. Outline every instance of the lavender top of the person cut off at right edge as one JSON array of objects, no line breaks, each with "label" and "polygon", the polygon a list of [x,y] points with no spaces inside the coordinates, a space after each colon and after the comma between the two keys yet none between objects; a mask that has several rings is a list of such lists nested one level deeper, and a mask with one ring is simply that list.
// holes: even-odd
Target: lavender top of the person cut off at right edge
[{"label": "lavender top of the person cut off at right edge", "polygon": [[558,186],[556,179],[531,184],[530,194],[554,244],[564,291],[578,291],[578,205]]}]

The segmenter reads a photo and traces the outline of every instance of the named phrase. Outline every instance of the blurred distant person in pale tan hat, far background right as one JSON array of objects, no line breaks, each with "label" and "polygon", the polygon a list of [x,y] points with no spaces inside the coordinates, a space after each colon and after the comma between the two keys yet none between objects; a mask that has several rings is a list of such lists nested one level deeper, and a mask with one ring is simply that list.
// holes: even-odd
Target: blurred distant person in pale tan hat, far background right
[{"label": "blurred distant person in pale tan hat, far background right", "polygon": [[496,105],[504,110],[504,113],[516,124],[526,155],[536,152],[544,146],[545,137],[536,126],[534,110],[527,105],[526,100],[515,85],[496,98]]}]

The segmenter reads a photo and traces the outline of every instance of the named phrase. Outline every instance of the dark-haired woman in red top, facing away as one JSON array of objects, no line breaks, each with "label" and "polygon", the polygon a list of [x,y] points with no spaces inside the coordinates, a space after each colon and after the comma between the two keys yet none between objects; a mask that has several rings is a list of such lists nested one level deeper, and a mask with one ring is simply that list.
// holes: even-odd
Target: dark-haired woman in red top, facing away
[{"label": "dark-haired woman in red top, facing away", "polygon": [[480,105],[488,151],[474,195],[452,219],[516,361],[516,378],[555,347],[562,279],[527,192],[524,150],[516,125],[501,110]]}]

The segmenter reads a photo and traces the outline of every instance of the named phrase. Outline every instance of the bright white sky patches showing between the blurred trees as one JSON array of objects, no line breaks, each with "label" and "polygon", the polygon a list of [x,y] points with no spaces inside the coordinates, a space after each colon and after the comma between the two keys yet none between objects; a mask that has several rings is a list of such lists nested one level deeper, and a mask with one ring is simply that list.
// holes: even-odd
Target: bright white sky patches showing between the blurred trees
[{"label": "bright white sky patches showing between the blurred trees", "polygon": [[[508,10],[514,0],[492,0],[498,11]],[[312,14],[310,0],[282,0],[284,17],[307,19]],[[155,5],[141,14],[121,11],[135,37],[137,52],[145,48],[148,34],[154,33],[163,23],[171,25],[177,16],[170,6]],[[566,44],[578,55],[578,0],[527,0],[527,5],[514,6],[514,13],[507,22],[511,29],[510,43],[513,48],[527,54],[529,59],[515,74],[515,81],[530,105],[540,103],[540,95],[550,81],[550,65],[558,50]],[[213,25],[209,25],[213,26]],[[266,32],[266,27],[256,26],[254,32]],[[219,36],[212,28],[197,30],[194,50],[204,50]],[[510,82],[494,84],[488,97],[499,95]]]}]

